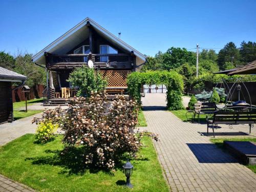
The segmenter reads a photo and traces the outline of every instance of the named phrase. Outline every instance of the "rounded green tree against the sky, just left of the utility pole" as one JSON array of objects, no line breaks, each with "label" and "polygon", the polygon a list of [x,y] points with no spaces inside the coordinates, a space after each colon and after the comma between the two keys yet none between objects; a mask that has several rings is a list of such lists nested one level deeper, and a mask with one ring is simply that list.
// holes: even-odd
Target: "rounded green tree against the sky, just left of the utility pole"
[{"label": "rounded green tree against the sky, just left of the utility pole", "polygon": [[163,70],[171,70],[180,67],[185,62],[190,65],[196,63],[196,55],[185,48],[170,48],[163,54]]}]

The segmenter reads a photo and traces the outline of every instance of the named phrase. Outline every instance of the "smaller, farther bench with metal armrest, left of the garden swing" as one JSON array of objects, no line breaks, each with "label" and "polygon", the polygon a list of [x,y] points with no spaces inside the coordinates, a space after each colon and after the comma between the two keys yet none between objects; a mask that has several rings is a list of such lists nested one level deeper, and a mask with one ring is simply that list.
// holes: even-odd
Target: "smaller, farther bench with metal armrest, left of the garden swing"
[{"label": "smaller, farther bench with metal armrest, left of the garden swing", "polygon": [[216,110],[217,110],[217,106],[216,106],[216,103],[214,102],[195,103],[193,121],[195,121],[196,115],[198,115],[198,123],[200,123],[200,118],[199,118],[200,115],[213,114]]}]

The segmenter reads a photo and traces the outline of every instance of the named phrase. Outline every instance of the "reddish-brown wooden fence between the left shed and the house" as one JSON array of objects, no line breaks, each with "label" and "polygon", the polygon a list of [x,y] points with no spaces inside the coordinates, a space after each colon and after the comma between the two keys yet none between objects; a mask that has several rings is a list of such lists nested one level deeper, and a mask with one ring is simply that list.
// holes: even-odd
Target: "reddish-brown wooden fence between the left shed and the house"
[{"label": "reddish-brown wooden fence between the left shed and the house", "polygon": [[[15,86],[12,86],[12,89],[14,88]],[[45,89],[45,86],[42,84],[39,84],[37,86],[30,88],[28,99],[42,97],[42,91],[44,91],[44,89]],[[25,93],[22,92],[22,88],[18,88],[12,91],[12,102],[25,101],[25,100],[26,100]]]}]

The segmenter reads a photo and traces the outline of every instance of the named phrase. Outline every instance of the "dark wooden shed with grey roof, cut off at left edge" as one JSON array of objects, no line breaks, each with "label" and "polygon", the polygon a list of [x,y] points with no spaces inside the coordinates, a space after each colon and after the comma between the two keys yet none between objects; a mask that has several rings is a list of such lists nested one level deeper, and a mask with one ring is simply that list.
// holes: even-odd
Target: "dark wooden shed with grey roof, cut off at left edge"
[{"label": "dark wooden shed with grey roof, cut off at left edge", "polygon": [[0,123],[13,121],[12,82],[18,82],[20,87],[26,79],[24,75],[0,67]]}]

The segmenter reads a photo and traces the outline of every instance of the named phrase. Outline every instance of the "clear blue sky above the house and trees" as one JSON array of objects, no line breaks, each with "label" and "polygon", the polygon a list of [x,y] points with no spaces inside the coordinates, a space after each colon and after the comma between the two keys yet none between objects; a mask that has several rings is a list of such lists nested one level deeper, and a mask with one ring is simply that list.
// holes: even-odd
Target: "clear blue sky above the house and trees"
[{"label": "clear blue sky above the house and trees", "polygon": [[[146,55],[170,47],[222,48],[256,41],[256,1],[4,1],[0,50],[35,54],[84,18]],[[219,51],[218,49],[216,50]]]}]

